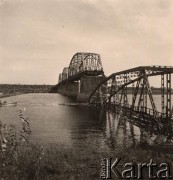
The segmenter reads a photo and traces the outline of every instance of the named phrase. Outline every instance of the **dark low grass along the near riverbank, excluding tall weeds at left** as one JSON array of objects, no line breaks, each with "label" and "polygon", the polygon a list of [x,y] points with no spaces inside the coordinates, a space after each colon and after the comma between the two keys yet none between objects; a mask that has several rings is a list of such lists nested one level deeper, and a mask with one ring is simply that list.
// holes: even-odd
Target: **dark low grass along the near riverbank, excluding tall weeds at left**
[{"label": "dark low grass along the near riverbank, excluding tall weeds at left", "polygon": [[[120,164],[116,167],[118,171],[123,170],[125,163],[147,163],[151,159],[158,166],[167,163],[172,167],[173,154],[166,154],[162,150],[155,151],[146,144],[141,147],[115,149],[114,151],[101,152],[86,146],[85,150],[77,151],[67,147],[56,145],[37,148],[29,145],[22,149],[16,162],[1,166],[0,175],[4,179],[68,179],[68,180],[98,180],[100,179],[101,163],[104,158],[121,158]],[[102,164],[103,165],[103,164]],[[126,168],[127,169],[127,168]],[[154,172],[157,172],[155,168]],[[171,172],[172,173],[172,172]],[[148,179],[148,170],[143,170],[144,179]],[[171,174],[173,175],[173,174]],[[113,179],[116,179],[112,174]]]}]

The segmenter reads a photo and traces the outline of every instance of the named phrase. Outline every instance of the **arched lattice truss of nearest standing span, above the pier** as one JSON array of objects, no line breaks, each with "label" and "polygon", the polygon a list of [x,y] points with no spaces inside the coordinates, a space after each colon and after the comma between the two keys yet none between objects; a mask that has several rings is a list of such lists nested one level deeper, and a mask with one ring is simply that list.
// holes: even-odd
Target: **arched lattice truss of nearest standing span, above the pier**
[{"label": "arched lattice truss of nearest standing span, above the pier", "polygon": [[69,77],[84,71],[103,71],[99,54],[76,53],[69,65]]}]

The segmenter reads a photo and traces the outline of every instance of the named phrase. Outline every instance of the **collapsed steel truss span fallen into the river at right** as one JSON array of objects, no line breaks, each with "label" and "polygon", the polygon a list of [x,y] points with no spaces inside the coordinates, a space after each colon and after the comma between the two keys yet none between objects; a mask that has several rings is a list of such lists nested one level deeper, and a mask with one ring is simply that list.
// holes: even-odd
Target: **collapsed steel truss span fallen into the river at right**
[{"label": "collapsed steel truss span fallen into the river at right", "polygon": [[[123,113],[138,125],[172,138],[171,75],[173,67],[140,66],[113,73],[91,93],[89,103],[108,111]],[[160,77],[160,101],[156,103],[151,79]],[[158,99],[157,99],[158,100]],[[160,104],[160,107],[159,107]]]}]

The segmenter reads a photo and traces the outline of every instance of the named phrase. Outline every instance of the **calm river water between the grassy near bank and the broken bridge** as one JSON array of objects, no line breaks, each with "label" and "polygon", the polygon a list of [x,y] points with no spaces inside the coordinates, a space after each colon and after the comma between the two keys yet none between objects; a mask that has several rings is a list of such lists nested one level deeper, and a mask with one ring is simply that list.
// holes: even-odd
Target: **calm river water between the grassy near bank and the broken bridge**
[{"label": "calm river water between the grassy near bank and the broken bridge", "polygon": [[[155,97],[159,103],[158,97]],[[60,94],[25,94],[1,99],[17,102],[14,107],[1,107],[3,123],[20,123],[19,111],[29,118],[32,130],[31,141],[40,144],[57,144],[70,148],[92,146],[97,149],[114,149],[134,146],[146,141],[154,144],[156,135],[117,117],[78,104]]]}]

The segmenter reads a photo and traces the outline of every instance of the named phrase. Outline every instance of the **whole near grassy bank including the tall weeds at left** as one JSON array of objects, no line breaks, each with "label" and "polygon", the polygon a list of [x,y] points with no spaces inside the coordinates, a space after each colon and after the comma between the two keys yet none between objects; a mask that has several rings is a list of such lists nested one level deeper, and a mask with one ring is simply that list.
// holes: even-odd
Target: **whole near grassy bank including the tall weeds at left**
[{"label": "whole near grassy bank including the tall weeds at left", "polygon": [[30,142],[29,119],[19,111],[18,129],[14,125],[0,123],[0,178],[18,179],[100,179],[101,159],[122,158],[121,164],[128,162],[149,163],[150,159],[160,164],[173,163],[172,146],[149,146],[145,143],[135,147],[114,150],[95,149],[86,144],[81,149],[67,146],[41,146]]}]

